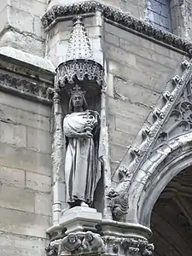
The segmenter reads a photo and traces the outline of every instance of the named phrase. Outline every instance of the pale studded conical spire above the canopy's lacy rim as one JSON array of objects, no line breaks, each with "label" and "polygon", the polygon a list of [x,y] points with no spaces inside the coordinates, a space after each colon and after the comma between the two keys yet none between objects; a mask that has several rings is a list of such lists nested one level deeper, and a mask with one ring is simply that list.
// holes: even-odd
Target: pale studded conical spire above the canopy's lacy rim
[{"label": "pale studded conical spire above the canopy's lacy rim", "polygon": [[66,61],[79,59],[93,60],[90,40],[85,31],[82,17],[78,15],[73,21],[73,30],[69,39]]}]

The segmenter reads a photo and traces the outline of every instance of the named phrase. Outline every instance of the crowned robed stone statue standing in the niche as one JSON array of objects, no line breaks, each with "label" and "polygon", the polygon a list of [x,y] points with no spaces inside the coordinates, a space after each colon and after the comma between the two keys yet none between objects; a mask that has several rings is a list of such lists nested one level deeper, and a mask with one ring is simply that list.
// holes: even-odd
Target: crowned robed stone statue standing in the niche
[{"label": "crowned robed stone statue standing in the niche", "polygon": [[76,85],[70,91],[69,114],[63,131],[67,140],[65,180],[70,207],[88,207],[101,177],[98,165],[99,114],[86,109],[84,92]]}]

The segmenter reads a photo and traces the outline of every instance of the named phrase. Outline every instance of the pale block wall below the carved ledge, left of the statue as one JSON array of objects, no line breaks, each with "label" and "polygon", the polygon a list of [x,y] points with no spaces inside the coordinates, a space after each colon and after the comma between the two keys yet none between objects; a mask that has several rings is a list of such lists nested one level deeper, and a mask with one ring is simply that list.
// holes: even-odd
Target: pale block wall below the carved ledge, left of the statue
[{"label": "pale block wall below the carved ledge, left of the statue", "polygon": [[51,216],[50,107],[0,92],[0,254],[44,255]]}]

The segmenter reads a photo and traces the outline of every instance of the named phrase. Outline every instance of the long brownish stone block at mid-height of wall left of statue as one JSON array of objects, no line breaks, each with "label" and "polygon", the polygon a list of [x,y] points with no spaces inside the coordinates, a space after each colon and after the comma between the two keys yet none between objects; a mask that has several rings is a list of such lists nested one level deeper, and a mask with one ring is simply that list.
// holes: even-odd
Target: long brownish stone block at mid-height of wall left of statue
[{"label": "long brownish stone block at mid-height of wall left of statue", "polygon": [[0,165],[44,175],[50,175],[51,173],[49,154],[41,154],[25,148],[16,148],[7,143],[0,143]]}]

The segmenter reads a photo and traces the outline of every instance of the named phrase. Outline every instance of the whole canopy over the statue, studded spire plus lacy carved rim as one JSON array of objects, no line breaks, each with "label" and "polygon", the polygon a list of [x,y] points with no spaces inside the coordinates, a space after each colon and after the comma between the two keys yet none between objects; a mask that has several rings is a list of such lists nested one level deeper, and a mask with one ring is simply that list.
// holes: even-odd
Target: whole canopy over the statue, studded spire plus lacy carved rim
[{"label": "whole canopy over the statue, studded spire plus lacy carved rim", "polygon": [[56,73],[56,86],[60,88],[86,80],[91,83],[89,90],[96,92],[103,85],[103,67],[93,59],[90,40],[79,15],[74,18],[66,61],[57,67]]}]

